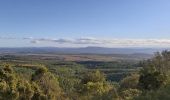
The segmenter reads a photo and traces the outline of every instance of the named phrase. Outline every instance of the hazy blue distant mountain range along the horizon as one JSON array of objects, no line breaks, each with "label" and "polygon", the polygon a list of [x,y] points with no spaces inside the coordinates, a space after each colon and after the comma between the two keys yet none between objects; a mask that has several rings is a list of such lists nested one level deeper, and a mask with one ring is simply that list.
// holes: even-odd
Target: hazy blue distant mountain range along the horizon
[{"label": "hazy blue distant mountain range along the horizon", "polygon": [[0,48],[0,53],[57,53],[57,54],[153,54],[157,51],[170,50],[170,48],[58,48],[58,47],[23,47]]}]

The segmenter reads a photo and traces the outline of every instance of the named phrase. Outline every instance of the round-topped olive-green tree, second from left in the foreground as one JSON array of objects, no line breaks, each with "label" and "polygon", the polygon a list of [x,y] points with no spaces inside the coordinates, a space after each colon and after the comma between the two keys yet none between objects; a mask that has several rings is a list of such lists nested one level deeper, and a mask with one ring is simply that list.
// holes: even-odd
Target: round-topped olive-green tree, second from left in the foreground
[{"label": "round-topped olive-green tree, second from left in the foreground", "polygon": [[62,99],[62,89],[56,76],[48,72],[44,67],[38,69],[32,77],[32,81],[38,84],[47,100]]}]

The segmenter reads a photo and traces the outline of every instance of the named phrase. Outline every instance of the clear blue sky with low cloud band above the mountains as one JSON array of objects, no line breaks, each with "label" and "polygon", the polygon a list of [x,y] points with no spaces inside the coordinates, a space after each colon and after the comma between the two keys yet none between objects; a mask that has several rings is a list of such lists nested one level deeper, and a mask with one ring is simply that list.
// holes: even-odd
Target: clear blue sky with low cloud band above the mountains
[{"label": "clear blue sky with low cloud band above the mountains", "polygon": [[0,0],[0,47],[170,47],[170,0]]}]

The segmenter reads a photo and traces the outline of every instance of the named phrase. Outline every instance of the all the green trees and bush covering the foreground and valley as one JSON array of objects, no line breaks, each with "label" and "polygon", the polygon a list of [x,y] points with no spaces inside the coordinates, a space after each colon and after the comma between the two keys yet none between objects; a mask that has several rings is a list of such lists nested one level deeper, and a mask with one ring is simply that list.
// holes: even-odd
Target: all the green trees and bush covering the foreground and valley
[{"label": "all the green trees and bush covering the foreground and valley", "polygon": [[[0,65],[0,100],[170,100],[170,51],[139,63],[19,63],[7,57]],[[125,74],[120,81],[108,78],[116,73]]]}]

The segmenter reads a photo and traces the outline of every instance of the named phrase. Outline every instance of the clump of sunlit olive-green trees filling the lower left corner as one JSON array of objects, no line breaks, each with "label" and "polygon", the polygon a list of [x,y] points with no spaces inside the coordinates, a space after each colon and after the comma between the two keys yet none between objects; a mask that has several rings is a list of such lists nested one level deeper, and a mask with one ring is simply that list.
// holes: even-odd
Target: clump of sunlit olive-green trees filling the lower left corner
[{"label": "clump of sunlit olive-green trees filling the lower left corner", "polygon": [[18,76],[12,67],[3,67],[0,70],[0,99],[56,100],[61,98],[58,81],[51,73],[39,69],[35,74],[31,82]]}]

